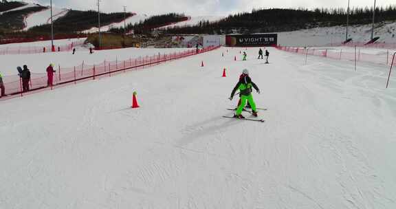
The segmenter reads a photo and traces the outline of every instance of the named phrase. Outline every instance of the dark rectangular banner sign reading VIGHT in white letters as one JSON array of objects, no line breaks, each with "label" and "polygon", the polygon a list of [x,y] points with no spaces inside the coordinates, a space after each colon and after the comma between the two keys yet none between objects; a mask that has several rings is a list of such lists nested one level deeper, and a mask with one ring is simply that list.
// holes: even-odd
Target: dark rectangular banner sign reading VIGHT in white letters
[{"label": "dark rectangular banner sign reading VIGHT in white letters", "polygon": [[227,35],[228,47],[266,47],[278,44],[278,34]]}]

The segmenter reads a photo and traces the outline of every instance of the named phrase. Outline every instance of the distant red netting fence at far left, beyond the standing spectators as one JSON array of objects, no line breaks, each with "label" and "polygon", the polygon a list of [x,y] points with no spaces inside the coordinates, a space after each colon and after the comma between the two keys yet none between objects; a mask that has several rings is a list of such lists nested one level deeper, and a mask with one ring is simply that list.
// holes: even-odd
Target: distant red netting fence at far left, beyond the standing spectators
[{"label": "distant red netting fence at far left, beyond the standing spectators", "polygon": [[[67,45],[54,45],[54,52],[68,52],[74,47],[83,45],[84,41],[73,41]],[[52,52],[52,46],[20,46],[20,47],[3,47],[0,48],[0,55],[5,54],[39,54]]]}]

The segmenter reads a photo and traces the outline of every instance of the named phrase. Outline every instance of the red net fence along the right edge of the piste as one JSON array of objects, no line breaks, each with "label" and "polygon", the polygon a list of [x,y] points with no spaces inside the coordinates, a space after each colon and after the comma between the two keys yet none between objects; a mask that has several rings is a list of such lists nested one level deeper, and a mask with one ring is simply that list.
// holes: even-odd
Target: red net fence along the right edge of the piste
[{"label": "red net fence along the right edge of the piste", "polygon": [[[393,54],[389,50],[387,50],[386,54],[365,54],[360,52],[358,46],[355,47],[355,52],[346,52],[345,50],[325,50],[325,49],[311,49],[309,47],[283,47],[281,45],[276,46],[276,49],[282,50],[285,52],[294,52],[297,54],[305,55],[305,63],[307,62],[307,56],[322,56],[326,58],[333,58],[337,60],[344,61],[354,61],[356,62],[367,62],[367,63],[375,63],[380,65],[388,65],[391,66]],[[395,62],[395,61],[394,61]]]}]

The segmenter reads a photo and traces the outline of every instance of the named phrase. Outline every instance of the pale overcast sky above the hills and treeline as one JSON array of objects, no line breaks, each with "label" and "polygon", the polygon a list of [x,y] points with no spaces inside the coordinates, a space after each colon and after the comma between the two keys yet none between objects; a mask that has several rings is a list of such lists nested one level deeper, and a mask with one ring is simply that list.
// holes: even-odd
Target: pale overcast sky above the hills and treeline
[{"label": "pale overcast sky above the hills and treeline", "polygon": [[[50,0],[36,1],[42,5]],[[96,10],[97,0],[52,0],[61,8]],[[101,10],[119,12],[122,5],[130,12],[139,14],[185,13],[191,16],[228,15],[235,12],[250,12],[252,8],[347,8],[348,0],[101,0]],[[351,0],[351,7],[372,7],[374,0]],[[377,5],[396,5],[396,0],[377,0]]]}]

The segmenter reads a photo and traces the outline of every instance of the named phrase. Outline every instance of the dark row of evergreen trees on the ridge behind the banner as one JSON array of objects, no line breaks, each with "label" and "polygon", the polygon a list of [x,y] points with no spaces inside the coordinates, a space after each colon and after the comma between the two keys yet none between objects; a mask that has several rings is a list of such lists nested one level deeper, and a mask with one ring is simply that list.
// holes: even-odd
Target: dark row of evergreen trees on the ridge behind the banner
[{"label": "dark row of evergreen trees on the ridge behind the banner", "polygon": [[[353,25],[371,23],[373,11],[370,8],[353,8],[350,22]],[[202,21],[198,25],[167,28],[167,34],[227,34],[233,31],[283,32],[315,28],[321,26],[344,25],[347,10],[338,9],[262,9],[230,15],[221,21],[209,23]],[[395,21],[396,6],[376,9],[376,21]]]}]

